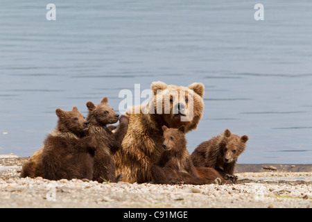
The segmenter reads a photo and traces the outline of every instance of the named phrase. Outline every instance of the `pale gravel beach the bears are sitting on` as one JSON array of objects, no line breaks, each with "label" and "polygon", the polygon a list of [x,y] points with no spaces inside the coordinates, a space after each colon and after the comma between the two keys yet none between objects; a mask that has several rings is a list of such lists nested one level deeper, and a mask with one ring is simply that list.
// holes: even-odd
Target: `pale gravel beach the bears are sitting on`
[{"label": "pale gravel beach the bears are sitting on", "polygon": [[26,160],[0,155],[0,207],[312,207],[311,167],[239,172],[235,185],[156,185],[19,178]]}]

